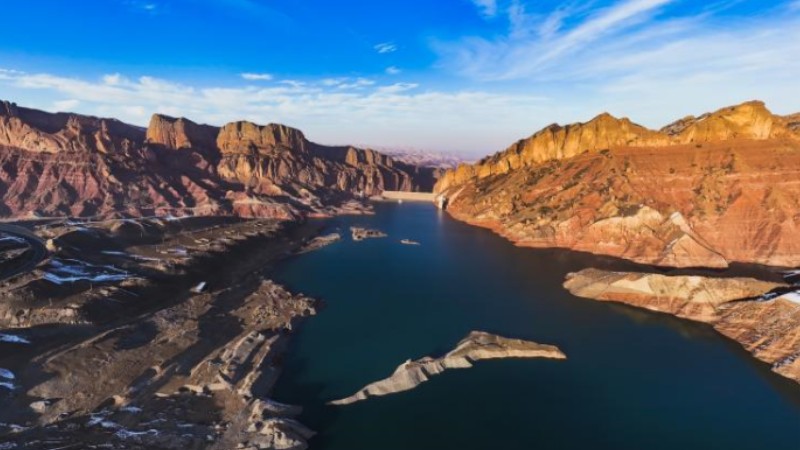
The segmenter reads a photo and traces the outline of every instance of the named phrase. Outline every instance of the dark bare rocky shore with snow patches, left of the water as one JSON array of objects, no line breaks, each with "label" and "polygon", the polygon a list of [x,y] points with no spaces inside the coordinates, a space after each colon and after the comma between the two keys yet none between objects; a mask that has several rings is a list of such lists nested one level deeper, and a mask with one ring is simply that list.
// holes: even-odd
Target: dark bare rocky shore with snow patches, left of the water
[{"label": "dark bare rocky shore with snow patches, left of the water", "polygon": [[268,274],[317,228],[38,224],[51,254],[0,283],[0,448],[306,448],[268,396],[317,302]]}]

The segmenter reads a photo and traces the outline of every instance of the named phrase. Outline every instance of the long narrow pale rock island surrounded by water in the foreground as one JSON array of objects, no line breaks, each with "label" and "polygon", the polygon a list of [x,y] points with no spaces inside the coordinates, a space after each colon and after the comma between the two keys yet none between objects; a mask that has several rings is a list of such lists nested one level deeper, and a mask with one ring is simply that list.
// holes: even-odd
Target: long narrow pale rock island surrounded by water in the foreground
[{"label": "long narrow pale rock island surrounded by water in the foreground", "polygon": [[456,348],[440,358],[426,356],[401,364],[389,377],[365,386],[355,394],[328,402],[329,405],[349,405],[370,397],[409,391],[447,369],[467,369],[482,359],[552,358],[566,359],[553,345],[537,344],[521,339],[509,339],[482,331],[473,331]]}]

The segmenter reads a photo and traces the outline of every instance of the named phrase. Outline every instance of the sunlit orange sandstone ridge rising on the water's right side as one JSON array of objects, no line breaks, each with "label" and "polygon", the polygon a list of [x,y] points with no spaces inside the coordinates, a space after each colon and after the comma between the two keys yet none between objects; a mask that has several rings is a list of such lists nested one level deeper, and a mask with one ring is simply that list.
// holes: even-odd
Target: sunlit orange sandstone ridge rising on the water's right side
[{"label": "sunlit orange sandstone ridge rising on the water's right side", "polygon": [[800,115],[762,102],[661,130],[601,114],[550,125],[435,192],[520,246],[671,267],[800,265]]}]

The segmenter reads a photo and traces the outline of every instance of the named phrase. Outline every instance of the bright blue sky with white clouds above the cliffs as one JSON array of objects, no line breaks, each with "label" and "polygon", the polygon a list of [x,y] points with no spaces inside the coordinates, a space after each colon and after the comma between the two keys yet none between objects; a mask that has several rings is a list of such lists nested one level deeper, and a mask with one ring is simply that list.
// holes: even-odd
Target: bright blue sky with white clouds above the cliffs
[{"label": "bright blue sky with white clouds above the cliffs", "polygon": [[482,155],[609,111],[800,111],[800,0],[6,2],[0,98]]}]

